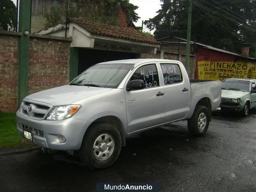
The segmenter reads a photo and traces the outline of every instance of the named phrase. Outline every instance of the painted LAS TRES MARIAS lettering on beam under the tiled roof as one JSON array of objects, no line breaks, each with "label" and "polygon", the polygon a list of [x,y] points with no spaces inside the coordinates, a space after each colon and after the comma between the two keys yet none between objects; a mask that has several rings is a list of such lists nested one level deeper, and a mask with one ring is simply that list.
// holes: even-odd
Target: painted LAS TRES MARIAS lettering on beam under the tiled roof
[{"label": "painted LAS TRES MARIAS lettering on beam under the tiled roof", "polygon": [[134,52],[134,47],[131,46],[124,46],[118,44],[107,44],[107,43],[100,43],[94,42],[95,49],[104,49],[109,51],[121,51],[121,52]]}]

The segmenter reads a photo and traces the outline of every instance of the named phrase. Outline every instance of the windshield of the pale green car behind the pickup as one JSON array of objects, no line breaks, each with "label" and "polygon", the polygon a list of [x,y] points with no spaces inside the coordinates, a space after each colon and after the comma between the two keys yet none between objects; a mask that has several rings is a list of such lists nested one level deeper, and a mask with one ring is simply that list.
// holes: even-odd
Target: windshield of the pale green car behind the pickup
[{"label": "windshield of the pale green car behind the pickup", "polygon": [[221,83],[221,89],[249,91],[250,82],[249,81],[226,79]]}]

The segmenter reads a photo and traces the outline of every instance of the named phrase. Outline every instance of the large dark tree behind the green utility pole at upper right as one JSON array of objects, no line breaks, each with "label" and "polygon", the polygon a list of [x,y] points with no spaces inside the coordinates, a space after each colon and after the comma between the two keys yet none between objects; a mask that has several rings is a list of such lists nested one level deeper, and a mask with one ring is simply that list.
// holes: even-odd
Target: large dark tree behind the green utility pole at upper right
[{"label": "large dark tree behind the green utility pole at upper right", "polygon": [[[162,9],[145,21],[155,38],[186,38],[188,0],[160,0]],[[193,0],[192,39],[233,52],[256,43],[255,0]]]}]

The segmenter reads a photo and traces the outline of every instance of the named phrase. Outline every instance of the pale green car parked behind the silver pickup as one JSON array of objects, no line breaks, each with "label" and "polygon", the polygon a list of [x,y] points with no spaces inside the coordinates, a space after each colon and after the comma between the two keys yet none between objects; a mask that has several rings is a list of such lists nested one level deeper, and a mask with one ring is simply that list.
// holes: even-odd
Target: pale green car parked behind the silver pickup
[{"label": "pale green car parked behind the silver pickup", "polygon": [[221,110],[239,111],[249,115],[256,107],[256,79],[225,79],[221,82]]}]

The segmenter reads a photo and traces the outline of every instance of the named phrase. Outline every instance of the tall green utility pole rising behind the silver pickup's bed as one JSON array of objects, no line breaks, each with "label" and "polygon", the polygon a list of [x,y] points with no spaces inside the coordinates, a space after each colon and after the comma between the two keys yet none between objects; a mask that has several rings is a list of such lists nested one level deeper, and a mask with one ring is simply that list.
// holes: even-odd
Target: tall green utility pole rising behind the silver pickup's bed
[{"label": "tall green utility pole rising behind the silver pickup's bed", "polygon": [[189,73],[191,17],[192,17],[192,0],[189,0],[189,15],[188,15],[187,44],[186,44],[186,71],[187,71],[187,73]]}]

